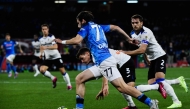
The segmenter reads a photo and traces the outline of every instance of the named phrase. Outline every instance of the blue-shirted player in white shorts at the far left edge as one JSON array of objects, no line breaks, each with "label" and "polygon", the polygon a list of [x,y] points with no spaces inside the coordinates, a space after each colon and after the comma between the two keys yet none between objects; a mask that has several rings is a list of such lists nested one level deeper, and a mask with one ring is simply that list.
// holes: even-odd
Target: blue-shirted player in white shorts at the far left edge
[{"label": "blue-shirted player in white shorts at the far left edge", "polygon": [[13,63],[16,53],[15,53],[15,46],[19,47],[20,53],[23,53],[21,45],[11,40],[11,35],[9,33],[5,34],[5,41],[1,45],[1,48],[4,50],[6,54],[6,61],[7,61],[7,72],[9,73],[8,77],[12,76],[11,70],[14,72],[14,78],[18,76],[18,72],[16,71],[16,67]]}]

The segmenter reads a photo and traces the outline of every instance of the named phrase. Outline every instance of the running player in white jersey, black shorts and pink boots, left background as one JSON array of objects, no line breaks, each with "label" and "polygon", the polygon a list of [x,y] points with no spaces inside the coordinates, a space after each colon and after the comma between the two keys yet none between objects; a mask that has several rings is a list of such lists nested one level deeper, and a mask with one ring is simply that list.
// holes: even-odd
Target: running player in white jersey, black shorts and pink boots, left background
[{"label": "running player in white jersey, black shorts and pink boots, left background", "polygon": [[49,25],[41,25],[43,36],[39,39],[40,41],[40,58],[43,59],[43,63],[40,66],[40,72],[50,78],[53,82],[53,88],[56,87],[57,78],[53,76],[48,70],[49,67],[52,67],[54,64],[59,71],[61,72],[63,79],[67,84],[67,89],[71,90],[71,82],[69,74],[66,72],[63,66],[63,60],[61,54],[57,50],[58,45],[55,43],[55,36],[49,33]]}]

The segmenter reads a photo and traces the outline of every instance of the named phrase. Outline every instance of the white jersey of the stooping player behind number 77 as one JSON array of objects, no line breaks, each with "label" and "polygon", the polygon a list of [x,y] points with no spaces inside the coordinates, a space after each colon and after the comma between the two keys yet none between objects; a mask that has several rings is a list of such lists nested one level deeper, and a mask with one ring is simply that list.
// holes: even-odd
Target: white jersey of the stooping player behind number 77
[{"label": "white jersey of the stooping player behind number 77", "polygon": [[123,64],[125,64],[131,58],[131,56],[118,50],[109,49],[109,51],[110,54],[116,59],[117,64],[119,64],[119,67],[122,67]]}]

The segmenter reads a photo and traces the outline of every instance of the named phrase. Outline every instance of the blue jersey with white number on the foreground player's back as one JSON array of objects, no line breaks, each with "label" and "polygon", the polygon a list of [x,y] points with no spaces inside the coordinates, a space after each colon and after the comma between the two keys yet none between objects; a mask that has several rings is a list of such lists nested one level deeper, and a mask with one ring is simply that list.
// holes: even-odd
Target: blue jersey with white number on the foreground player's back
[{"label": "blue jersey with white number on the foreground player's back", "polygon": [[110,31],[110,25],[98,25],[94,22],[88,22],[78,32],[86,42],[86,46],[90,49],[96,65],[100,65],[102,61],[111,56],[104,34],[104,32],[108,31]]}]

